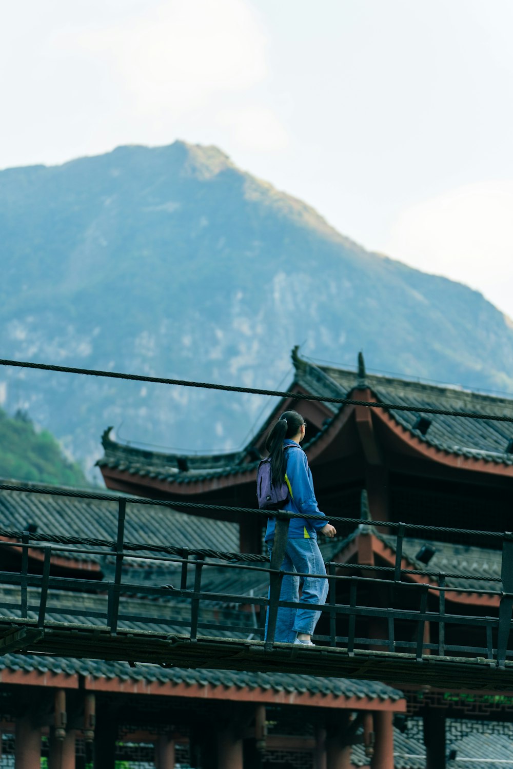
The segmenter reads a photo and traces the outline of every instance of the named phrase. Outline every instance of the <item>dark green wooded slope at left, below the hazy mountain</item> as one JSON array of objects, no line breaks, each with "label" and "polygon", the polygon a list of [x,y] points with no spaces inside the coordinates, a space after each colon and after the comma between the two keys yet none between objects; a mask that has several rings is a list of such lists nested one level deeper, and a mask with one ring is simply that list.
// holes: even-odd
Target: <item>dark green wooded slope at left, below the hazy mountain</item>
[{"label": "dark green wooded slope at left, below the hazy mountain", "polygon": [[0,478],[62,486],[88,485],[81,468],[64,457],[52,434],[36,431],[22,411],[8,417],[2,409]]}]

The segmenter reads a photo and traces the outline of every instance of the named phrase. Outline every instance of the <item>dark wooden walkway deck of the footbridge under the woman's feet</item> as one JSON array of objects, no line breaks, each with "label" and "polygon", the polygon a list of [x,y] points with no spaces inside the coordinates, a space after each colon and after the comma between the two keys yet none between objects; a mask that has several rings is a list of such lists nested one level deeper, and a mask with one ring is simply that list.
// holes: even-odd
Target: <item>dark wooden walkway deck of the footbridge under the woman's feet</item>
[{"label": "dark wooden walkway deck of the footbridge under the woman's feet", "polygon": [[235,638],[191,639],[188,635],[166,635],[151,631],[92,628],[82,624],[0,620],[0,654],[26,652],[150,663],[165,667],[211,668],[266,673],[298,673],[384,681],[388,684],[425,684],[451,689],[513,691],[513,661],[499,667],[484,657],[440,657],[388,651],[352,653],[344,648],[300,647],[276,643],[271,649],[263,641]]}]

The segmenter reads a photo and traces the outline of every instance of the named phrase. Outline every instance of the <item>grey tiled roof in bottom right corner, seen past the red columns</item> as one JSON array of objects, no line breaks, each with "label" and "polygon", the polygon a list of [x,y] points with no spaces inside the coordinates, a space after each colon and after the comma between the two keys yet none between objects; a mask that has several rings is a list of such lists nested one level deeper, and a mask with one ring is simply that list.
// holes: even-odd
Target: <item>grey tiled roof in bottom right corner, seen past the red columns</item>
[{"label": "grey tiled roof in bottom right corner, seen past the red columns", "polygon": [[[456,758],[448,762],[448,767],[455,769],[511,769],[513,767],[513,727],[511,724],[500,724],[504,734],[492,731],[493,722],[466,721],[465,725],[475,724],[474,731],[461,734],[458,721],[448,718],[445,722],[446,753],[456,751]],[[422,734],[421,720],[408,719],[413,730],[402,734],[394,729],[394,767],[395,769],[425,769],[425,745],[419,734]],[[367,767],[368,757],[365,756],[363,745],[355,745],[351,751],[351,763],[355,767]]]}]

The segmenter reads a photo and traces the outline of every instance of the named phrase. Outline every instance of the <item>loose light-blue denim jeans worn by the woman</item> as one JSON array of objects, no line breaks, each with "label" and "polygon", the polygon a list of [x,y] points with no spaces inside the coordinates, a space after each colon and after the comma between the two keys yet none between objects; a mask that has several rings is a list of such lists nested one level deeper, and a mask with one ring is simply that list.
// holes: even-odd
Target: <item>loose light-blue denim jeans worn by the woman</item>
[{"label": "loose light-blue denim jeans worn by the woman", "polygon": [[[268,542],[269,556],[272,542]],[[285,558],[281,564],[283,571],[299,571],[303,574],[326,574],[321,551],[314,538],[297,538],[287,541]],[[318,577],[295,577],[285,575],[281,582],[281,601],[299,601],[299,586],[301,581],[301,603],[324,604],[328,597],[328,580]],[[321,616],[320,611],[312,609],[278,608],[276,620],[275,641],[293,644],[298,633],[311,635]],[[267,635],[267,620],[265,634]]]}]

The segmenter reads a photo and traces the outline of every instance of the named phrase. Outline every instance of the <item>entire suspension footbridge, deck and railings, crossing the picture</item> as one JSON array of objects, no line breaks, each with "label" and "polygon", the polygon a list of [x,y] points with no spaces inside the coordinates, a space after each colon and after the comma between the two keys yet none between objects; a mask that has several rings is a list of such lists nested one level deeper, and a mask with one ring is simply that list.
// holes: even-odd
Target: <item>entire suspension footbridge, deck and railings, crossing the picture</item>
[{"label": "entire suspension footbridge, deck and railings, crossing the picture", "polygon": [[[495,616],[483,616],[479,606],[469,605],[470,613],[464,615],[447,605],[447,591],[469,588],[448,587],[445,578],[471,580],[471,576],[438,573],[429,582],[409,581],[417,572],[401,565],[405,524],[398,528],[395,567],[355,564],[351,569],[360,574],[349,576],[338,573],[344,564],[327,562],[328,574],[322,578],[328,579],[328,603],[314,606],[280,600],[286,574],[281,563],[291,514],[278,516],[269,567],[260,556],[133,543],[125,549],[125,507],[126,499],[119,498],[115,543],[62,536],[55,543],[46,534],[4,531],[10,541],[0,541],[0,552],[12,548],[14,541],[21,558],[19,571],[0,571],[0,655],[50,654],[165,667],[308,672],[398,686],[415,683],[513,691],[509,641],[513,534],[503,535],[501,578],[491,580],[485,588],[479,588],[479,582],[475,587],[471,583],[476,595],[494,598]],[[162,549],[165,555],[159,554]],[[41,573],[32,571],[33,564],[29,570],[29,551],[38,554]],[[110,562],[112,578],[58,576],[52,573],[55,554],[59,558],[68,554],[75,560],[94,556],[105,567]],[[144,564],[155,558],[165,566],[166,574],[168,569],[174,574],[175,587],[126,580],[135,571],[131,566],[123,572],[125,559]],[[365,568],[371,572],[361,574]],[[214,581],[208,576],[212,573],[217,574]],[[253,580],[258,594],[251,587]],[[378,600],[379,591],[387,592],[388,604]],[[342,602],[337,602],[337,596]],[[275,642],[279,607],[318,609],[324,614],[328,634],[318,636],[320,643],[315,647]],[[435,628],[434,643],[425,641],[426,626]],[[368,628],[381,628],[381,638]],[[357,630],[370,637],[358,637]],[[374,651],[380,645],[382,651]]]}]

